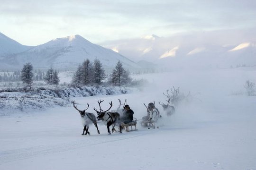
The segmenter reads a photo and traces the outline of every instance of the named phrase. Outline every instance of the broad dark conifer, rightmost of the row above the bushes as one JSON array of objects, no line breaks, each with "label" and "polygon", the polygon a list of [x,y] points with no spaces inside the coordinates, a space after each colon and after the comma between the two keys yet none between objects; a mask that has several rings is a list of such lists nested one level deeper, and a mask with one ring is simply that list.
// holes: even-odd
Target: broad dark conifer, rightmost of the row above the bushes
[{"label": "broad dark conifer, rightmost of the row above the bushes", "polygon": [[116,64],[115,69],[113,69],[110,75],[110,82],[113,85],[124,85],[130,82],[129,72],[123,68],[120,61]]}]

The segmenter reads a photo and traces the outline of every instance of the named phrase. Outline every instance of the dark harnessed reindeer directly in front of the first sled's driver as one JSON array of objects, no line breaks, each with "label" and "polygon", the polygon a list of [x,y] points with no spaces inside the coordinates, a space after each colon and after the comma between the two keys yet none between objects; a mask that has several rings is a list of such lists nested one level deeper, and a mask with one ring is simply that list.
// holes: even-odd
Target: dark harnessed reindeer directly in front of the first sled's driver
[{"label": "dark harnessed reindeer directly in front of the first sled's driver", "polygon": [[101,100],[100,100],[100,102],[98,101],[99,106],[100,106],[100,111],[98,111],[95,108],[93,108],[97,112],[97,114],[98,114],[97,120],[102,120],[105,123],[105,125],[107,125],[109,135],[111,134],[110,133],[110,126],[112,125],[112,133],[113,133],[116,124],[119,125],[120,133],[122,133],[119,113],[118,112],[110,112],[109,111],[111,109],[111,107],[113,106],[112,102],[110,102],[110,108],[108,110],[105,110],[105,111],[103,111],[101,109],[101,102],[103,102],[103,101],[101,101]]}]

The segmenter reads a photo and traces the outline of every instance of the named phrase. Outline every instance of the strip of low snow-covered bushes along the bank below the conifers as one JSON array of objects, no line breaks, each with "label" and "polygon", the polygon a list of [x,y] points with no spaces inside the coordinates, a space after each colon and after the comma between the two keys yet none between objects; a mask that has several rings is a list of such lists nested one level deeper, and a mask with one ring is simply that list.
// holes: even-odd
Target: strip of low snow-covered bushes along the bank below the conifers
[{"label": "strip of low snow-covered bushes along the bank below the conifers", "polygon": [[15,112],[15,110],[45,110],[55,105],[66,106],[70,104],[70,97],[112,95],[129,91],[131,88],[113,86],[82,86],[80,88],[47,86],[32,89],[2,89],[0,90],[0,115]]}]

